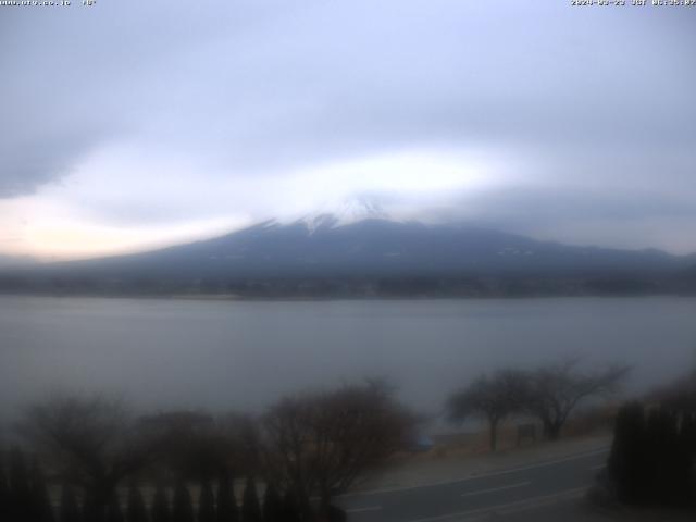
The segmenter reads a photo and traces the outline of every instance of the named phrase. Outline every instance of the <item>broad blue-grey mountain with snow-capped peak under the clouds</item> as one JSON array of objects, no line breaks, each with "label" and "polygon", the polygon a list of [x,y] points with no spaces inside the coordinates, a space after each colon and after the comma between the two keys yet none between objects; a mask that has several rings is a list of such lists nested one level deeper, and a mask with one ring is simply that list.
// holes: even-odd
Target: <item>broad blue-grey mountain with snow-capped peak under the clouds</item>
[{"label": "broad blue-grey mountain with snow-capped peak under the clouds", "polygon": [[405,294],[415,285],[418,294],[489,295],[523,282],[522,294],[576,294],[609,281],[618,291],[651,291],[695,264],[693,257],[658,250],[568,246],[460,223],[399,221],[376,204],[351,201],[187,245],[29,268],[0,277],[0,289],[9,281],[14,290],[18,284],[84,291],[381,295],[396,284]]}]

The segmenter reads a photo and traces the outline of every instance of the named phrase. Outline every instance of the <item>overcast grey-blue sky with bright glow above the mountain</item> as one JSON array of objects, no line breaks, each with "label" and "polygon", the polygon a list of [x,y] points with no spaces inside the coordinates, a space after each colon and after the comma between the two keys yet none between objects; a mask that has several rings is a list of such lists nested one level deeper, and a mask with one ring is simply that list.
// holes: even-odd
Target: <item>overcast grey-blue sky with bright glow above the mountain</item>
[{"label": "overcast grey-blue sky with bright glow above the mountain", "polygon": [[696,8],[564,0],[0,7],[0,253],[149,248],[357,195],[696,251],[694,29]]}]

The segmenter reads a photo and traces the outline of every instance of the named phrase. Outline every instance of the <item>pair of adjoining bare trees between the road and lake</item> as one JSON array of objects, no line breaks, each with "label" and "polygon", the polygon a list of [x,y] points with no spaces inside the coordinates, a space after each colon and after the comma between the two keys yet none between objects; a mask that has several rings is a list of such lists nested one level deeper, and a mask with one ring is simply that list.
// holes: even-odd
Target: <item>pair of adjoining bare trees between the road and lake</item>
[{"label": "pair of adjoining bare trees between the road and lake", "polygon": [[482,375],[449,397],[448,417],[455,423],[472,417],[484,419],[493,451],[500,423],[512,414],[535,417],[544,436],[556,440],[580,403],[613,393],[629,372],[622,365],[584,372],[579,363],[579,358],[571,358],[533,371],[504,369]]}]

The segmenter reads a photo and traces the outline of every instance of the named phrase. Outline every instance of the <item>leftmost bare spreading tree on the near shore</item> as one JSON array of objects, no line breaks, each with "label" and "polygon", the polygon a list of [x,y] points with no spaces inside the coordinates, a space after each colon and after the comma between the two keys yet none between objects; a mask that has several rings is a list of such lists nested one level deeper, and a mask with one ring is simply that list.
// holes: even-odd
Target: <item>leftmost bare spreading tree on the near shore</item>
[{"label": "leftmost bare spreading tree on the near shore", "polygon": [[21,432],[64,476],[80,485],[97,522],[121,481],[153,458],[156,442],[127,409],[102,397],[58,396],[32,407]]}]

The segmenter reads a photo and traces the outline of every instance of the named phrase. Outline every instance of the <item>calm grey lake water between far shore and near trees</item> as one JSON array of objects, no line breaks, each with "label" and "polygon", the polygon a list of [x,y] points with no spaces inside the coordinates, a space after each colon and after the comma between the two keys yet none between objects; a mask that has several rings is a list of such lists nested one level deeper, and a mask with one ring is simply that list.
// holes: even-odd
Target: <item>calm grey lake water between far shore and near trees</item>
[{"label": "calm grey lake water between far shore and near trees", "polygon": [[0,297],[3,415],[55,390],[146,408],[259,409],[384,375],[437,412],[497,366],[564,355],[634,364],[631,390],[696,362],[696,299],[213,301]]}]

